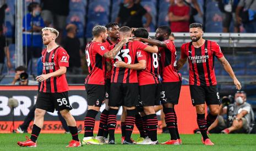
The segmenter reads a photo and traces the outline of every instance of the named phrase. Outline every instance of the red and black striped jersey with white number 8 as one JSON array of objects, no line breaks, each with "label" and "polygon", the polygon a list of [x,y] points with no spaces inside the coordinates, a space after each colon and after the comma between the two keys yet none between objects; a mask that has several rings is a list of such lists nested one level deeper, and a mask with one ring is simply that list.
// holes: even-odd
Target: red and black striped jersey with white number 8
[{"label": "red and black striped jersey with white number 8", "polygon": [[139,85],[160,83],[158,54],[138,50],[137,59],[138,61],[146,60],[146,68],[138,73]]}]

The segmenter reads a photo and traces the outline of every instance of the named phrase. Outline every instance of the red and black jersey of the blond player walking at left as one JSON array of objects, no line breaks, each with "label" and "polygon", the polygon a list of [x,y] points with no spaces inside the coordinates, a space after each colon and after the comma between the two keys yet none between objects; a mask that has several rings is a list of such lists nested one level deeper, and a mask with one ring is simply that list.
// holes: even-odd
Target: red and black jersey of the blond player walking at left
[{"label": "red and black jersey of the blond player walking at left", "polygon": [[[42,74],[55,72],[59,67],[69,66],[69,55],[67,51],[58,46],[49,53],[47,49],[42,50],[43,71]],[[57,77],[51,77],[41,82],[40,92],[65,92],[68,91],[68,82],[66,74]]]}]

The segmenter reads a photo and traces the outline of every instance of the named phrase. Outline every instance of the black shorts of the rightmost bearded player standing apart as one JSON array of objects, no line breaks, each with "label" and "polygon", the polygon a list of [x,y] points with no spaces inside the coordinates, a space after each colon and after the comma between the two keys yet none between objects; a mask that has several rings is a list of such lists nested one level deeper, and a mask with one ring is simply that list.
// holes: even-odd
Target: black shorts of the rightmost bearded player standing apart
[{"label": "black shorts of the rightmost bearded player standing apart", "polygon": [[216,85],[189,85],[189,90],[193,106],[204,104],[204,102],[206,102],[207,105],[220,104],[220,95],[217,91]]}]

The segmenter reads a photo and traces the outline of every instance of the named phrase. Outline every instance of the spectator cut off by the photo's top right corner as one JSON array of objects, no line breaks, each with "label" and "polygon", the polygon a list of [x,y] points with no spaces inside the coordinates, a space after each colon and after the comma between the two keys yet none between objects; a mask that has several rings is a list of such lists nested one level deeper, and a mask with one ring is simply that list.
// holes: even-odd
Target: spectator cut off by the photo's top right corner
[{"label": "spectator cut off by the photo's top right corner", "polygon": [[[248,10],[244,13],[244,10]],[[238,24],[243,23],[247,33],[256,33],[256,1],[240,0],[236,8],[236,19]]]}]

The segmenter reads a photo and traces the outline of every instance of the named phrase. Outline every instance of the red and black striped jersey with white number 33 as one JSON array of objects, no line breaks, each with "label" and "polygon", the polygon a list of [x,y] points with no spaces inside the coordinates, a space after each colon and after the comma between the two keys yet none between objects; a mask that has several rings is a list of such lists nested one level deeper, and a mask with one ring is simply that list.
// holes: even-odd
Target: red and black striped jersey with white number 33
[{"label": "red and black striped jersey with white number 33", "polygon": [[[111,83],[138,83],[137,71],[129,68],[119,68],[115,67],[116,61],[123,61],[128,64],[134,64],[137,61],[136,53],[137,50],[144,50],[148,45],[139,42],[128,42],[116,55],[115,59],[112,60],[112,75],[111,75]],[[115,45],[111,46],[113,49]]]}]

